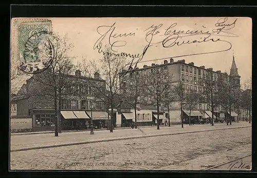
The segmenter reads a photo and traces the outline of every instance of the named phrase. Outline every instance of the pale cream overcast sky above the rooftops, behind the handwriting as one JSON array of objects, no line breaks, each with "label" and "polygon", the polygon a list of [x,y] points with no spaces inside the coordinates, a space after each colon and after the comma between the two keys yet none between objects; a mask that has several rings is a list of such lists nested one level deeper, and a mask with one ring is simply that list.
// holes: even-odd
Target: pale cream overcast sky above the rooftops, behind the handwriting
[{"label": "pale cream overcast sky above the rooftops, behind the handwriting", "polygon": [[[195,66],[204,65],[206,68],[212,67],[215,71],[229,73],[234,53],[238,73],[241,75],[241,84],[252,73],[252,22],[248,17],[50,19],[54,32],[60,35],[67,33],[69,41],[75,46],[70,55],[77,56],[77,61],[80,61],[82,56],[88,59],[102,57],[98,49],[94,49],[94,45],[99,46],[96,42],[101,36],[103,46],[113,44],[113,46],[119,46],[113,47],[113,50],[130,54],[141,54],[152,38],[152,46],[146,50],[141,63],[138,64],[139,68],[152,63],[163,64],[163,58],[173,57],[174,61],[185,60],[186,63],[194,62]],[[155,26],[157,26],[156,29]],[[155,31],[152,31],[154,29]],[[155,35],[149,34],[151,32]],[[130,35],[118,37],[119,34],[124,33],[130,33]],[[146,34],[149,35],[146,37]],[[204,38],[206,42],[191,43],[194,40],[203,41]],[[184,44],[182,44],[183,41]],[[185,44],[187,42],[190,44]],[[228,50],[230,47],[231,49]],[[190,55],[197,53],[206,54]]]}]

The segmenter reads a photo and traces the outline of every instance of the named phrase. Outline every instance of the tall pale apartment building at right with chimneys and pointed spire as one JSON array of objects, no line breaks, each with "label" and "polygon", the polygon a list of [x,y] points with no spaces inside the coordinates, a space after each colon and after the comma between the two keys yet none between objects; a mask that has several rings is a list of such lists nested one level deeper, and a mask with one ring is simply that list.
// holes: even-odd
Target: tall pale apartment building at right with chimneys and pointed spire
[{"label": "tall pale apartment building at right with chimneys and pointed spire", "polygon": [[[203,91],[204,88],[203,88],[203,85],[201,85],[200,81],[201,81],[201,78],[204,78],[207,74],[212,75],[214,78],[217,78],[219,74],[223,74],[228,78],[228,80],[232,80],[235,86],[240,88],[240,75],[238,74],[238,71],[236,68],[234,56],[233,56],[230,74],[227,74],[225,72],[222,73],[220,70],[213,71],[212,68],[205,68],[205,66],[199,66],[199,67],[194,66],[193,62],[186,64],[185,60],[179,60],[177,62],[174,62],[173,58],[171,58],[169,62],[167,60],[164,60],[164,63],[160,65],[158,64],[152,64],[151,66],[144,65],[143,68],[136,68],[135,70],[133,70],[133,72],[140,75],[140,74],[143,74],[145,71],[153,72],[154,69],[162,68],[162,67],[164,68],[164,70],[167,70],[170,74],[173,75],[171,83],[174,85],[180,82],[183,83],[185,86],[184,88],[186,92],[190,90],[195,90],[199,92]],[[124,81],[124,80],[120,78],[120,81]],[[183,120],[187,122],[186,117],[187,115],[189,115],[188,106],[185,105],[183,109],[184,109],[183,112],[185,113],[183,114]],[[224,109],[221,106],[216,107],[214,117],[225,117],[225,113],[219,114],[220,111],[224,111]],[[166,113],[166,116],[168,116],[167,113]],[[197,118],[211,117],[211,108],[206,103],[198,103],[193,107],[191,116],[197,117]],[[171,119],[171,123],[181,122],[180,105],[178,102],[174,102],[172,104],[172,108],[170,111],[170,119]]]}]

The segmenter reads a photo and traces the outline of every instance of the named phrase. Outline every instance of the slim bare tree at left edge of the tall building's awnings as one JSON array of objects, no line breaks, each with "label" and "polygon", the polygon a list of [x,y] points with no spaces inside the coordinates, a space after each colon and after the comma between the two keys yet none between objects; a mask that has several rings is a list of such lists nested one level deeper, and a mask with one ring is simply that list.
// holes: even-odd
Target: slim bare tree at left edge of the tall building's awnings
[{"label": "slim bare tree at left edge of the tall building's awnings", "polygon": [[186,102],[186,90],[185,90],[185,85],[180,82],[177,85],[174,86],[174,92],[176,93],[177,96],[177,101],[180,104],[180,113],[181,113],[181,127],[183,128],[183,106],[185,105]]}]

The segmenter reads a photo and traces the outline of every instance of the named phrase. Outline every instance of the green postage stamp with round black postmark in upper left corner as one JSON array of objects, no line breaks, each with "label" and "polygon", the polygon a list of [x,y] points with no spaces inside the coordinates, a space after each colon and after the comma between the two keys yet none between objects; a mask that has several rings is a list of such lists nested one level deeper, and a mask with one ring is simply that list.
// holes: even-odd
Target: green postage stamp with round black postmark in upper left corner
[{"label": "green postage stamp with round black postmark in upper left corner", "polygon": [[[46,69],[50,61],[41,55],[41,48],[51,36],[52,25],[47,19],[15,18],[17,58],[19,68],[26,73],[35,73]],[[15,37],[15,35],[14,35]]]}]

